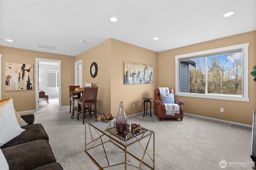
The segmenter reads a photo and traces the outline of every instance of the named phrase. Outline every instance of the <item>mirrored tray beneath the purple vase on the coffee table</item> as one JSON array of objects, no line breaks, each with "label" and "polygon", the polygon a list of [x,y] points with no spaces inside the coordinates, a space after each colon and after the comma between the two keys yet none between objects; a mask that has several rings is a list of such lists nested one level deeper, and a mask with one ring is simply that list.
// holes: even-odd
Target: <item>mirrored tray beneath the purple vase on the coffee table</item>
[{"label": "mirrored tray beneath the purple vase on the coffee table", "polygon": [[114,135],[115,137],[118,137],[122,141],[128,141],[129,139],[132,139],[132,138],[148,131],[148,129],[145,129],[143,127],[140,127],[140,131],[138,131],[138,129],[135,129],[138,133],[133,133],[132,131],[130,131],[128,129],[128,130],[126,130],[126,133],[118,134],[117,131],[116,131],[116,127],[110,127],[108,129],[105,129],[105,130],[107,132],[111,133],[112,135]]}]

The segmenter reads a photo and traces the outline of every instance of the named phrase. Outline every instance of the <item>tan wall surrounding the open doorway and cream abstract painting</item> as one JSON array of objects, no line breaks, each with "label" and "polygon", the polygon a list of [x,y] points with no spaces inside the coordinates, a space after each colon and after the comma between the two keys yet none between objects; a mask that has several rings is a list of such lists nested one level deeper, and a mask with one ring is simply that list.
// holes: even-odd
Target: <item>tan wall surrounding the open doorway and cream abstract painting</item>
[{"label": "tan wall surrounding the open doorway and cream abstract painting", "polygon": [[[74,84],[74,57],[57,55],[52,53],[42,53],[24,49],[0,46],[2,54],[2,98],[13,98],[14,108],[17,111],[30,111],[36,109],[36,58],[54,59],[61,62],[61,100],[62,106],[69,106],[68,85]],[[5,91],[5,63],[25,63],[34,64],[34,89],[24,91]],[[50,97],[50,94],[48,94]]]}]

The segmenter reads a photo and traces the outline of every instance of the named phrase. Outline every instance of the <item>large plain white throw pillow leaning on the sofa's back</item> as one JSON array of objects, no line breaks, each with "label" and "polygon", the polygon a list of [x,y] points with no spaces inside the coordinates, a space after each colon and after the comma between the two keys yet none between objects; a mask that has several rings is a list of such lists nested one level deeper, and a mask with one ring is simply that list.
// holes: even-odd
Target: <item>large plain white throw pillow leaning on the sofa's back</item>
[{"label": "large plain white throw pillow leaning on the sofa's back", "polygon": [[0,147],[22,133],[14,112],[13,100],[0,106]]}]

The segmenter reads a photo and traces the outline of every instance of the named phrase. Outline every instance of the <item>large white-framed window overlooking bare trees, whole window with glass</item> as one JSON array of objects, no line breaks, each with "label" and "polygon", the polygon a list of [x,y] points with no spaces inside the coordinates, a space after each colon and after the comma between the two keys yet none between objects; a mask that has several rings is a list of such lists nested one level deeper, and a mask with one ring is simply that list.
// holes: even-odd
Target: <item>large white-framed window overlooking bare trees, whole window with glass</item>
[{"label": "large white-framed window overlooking bare trees, whole window with glass", "polygon": [[248,46],[175,56],[176,95],[248,102]]}]

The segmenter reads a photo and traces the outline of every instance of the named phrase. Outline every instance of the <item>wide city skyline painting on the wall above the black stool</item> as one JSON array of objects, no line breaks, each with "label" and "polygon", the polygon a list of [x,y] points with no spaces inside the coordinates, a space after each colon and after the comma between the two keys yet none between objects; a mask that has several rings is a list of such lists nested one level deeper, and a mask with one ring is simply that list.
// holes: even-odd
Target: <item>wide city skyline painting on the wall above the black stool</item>
[{"label": "wide city skyline painting on the wall above the black stool", "polygon": [[124,84],[153,83],[153,66],[124,62]]}]

